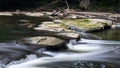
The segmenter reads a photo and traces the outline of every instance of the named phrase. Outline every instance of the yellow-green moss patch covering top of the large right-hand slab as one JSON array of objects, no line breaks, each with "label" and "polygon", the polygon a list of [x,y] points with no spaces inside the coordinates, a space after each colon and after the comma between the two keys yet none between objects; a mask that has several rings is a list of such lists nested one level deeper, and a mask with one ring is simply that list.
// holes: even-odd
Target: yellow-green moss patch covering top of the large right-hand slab
[{"label": "yellow-green moss patch covering top of the large right-hand slab", "polygon": [[84,30],[91,30],[104,27],[102,23],[92,23],[92,21],[88,19],[70,19],[70,20],[63,20],[66,24],[79,27]]}]

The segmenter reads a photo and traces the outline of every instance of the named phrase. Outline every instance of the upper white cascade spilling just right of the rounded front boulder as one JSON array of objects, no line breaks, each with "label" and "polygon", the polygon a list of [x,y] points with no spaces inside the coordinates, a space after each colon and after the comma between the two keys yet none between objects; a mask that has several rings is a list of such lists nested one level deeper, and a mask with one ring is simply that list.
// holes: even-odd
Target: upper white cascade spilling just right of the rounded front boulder
[{"label": "upper white cascade spilling just right of the rounded front boulder", "polygon": [[[73,43],[76,43],[76,44],[73,44]],[[112,45],[110,46],[110,44]],[[74,40],[70,40],[70,42],[67,44],[67,47],[69,50],[75,51],[75,52],[91,52],[91,51],[114,48],[116,45],[119,45],[119,44],[120,42],[117,42],[117,41],[81,39],[81,41],[78,41],[78,42],[75,42]]]}]

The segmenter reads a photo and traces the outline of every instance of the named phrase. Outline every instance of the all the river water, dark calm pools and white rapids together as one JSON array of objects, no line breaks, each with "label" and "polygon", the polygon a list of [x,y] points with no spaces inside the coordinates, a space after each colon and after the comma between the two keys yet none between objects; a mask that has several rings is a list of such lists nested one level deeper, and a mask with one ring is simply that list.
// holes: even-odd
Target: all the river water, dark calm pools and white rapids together
[{"label": "all the river water, dark calm pools and white rapids together", "polygon": [[[94,33],[78,32],[81,40],[71,40],[68,49],[50,51],[25,46],[18,40],[35,36],[33,30],[18,27],[17,20],[33,23],[49,20],[43,17],[0,16],[0,68],[119,68],[120,30]],[[38,57],[39,55],[39,57]]]}]

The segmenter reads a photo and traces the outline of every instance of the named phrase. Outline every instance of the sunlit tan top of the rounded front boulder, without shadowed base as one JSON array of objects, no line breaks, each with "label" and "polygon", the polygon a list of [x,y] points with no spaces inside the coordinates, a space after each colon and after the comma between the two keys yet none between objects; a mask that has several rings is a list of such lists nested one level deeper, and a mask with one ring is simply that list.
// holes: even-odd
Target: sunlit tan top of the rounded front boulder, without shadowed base
[{"label": "sunlit tan top of the rounded front boulder, without shadowed base", "polygon": [[50,36],[38,36],[38,37],[24,38],[22,42],[25,44],[32,44],[39,46],[59,46],[63,44],[65,45],[67,41]]}]

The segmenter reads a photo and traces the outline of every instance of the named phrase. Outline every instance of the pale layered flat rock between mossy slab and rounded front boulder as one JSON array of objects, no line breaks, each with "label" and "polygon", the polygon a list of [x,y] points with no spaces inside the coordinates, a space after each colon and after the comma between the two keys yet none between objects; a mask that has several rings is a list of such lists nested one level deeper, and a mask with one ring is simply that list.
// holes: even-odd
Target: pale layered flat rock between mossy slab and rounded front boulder
[{"label": "pale layered flat rock between mossy slab and rounded front boulder", "polygon": [[80,35],[74,30],[69,29],[67,25],[57,24],[54,22],[42,22],[34,30],[40,32],[44,36],[54,36],[64,40],[80,39]]}]

